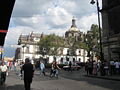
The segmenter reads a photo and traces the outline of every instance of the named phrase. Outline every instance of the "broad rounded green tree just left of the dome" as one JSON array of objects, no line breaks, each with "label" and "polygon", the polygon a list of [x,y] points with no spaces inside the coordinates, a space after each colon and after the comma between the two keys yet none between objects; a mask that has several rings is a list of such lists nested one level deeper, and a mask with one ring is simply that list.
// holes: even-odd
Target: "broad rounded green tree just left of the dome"
[{"label": "broad rounded green tree just left of the dome", "polygon": [[39,45],[39,53],[43,56],[48,55],[57,55],[58,48],[64,47],[64,39],[55,34],[46,35],[41,38]]}]

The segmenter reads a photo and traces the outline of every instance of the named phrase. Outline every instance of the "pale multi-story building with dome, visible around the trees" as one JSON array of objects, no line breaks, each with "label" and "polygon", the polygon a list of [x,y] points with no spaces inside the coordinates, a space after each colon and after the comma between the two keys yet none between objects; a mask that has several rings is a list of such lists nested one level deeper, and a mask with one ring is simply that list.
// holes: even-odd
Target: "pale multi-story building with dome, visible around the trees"
[{"label": "pale multi-story building with dome, visible around the trees", "polygon": [[[20,35],[18,44],[21,46],[20,48],[16,49],[16,59],[19,60],[25,60],[25,58],[30,59],[39,59],[42,57],[41,54],[39,54],[39,46],[38,42],[41,40],[42,37],[46,35],[39,34],[39,33],[30,33],[29,35]],[[66,31],[65,38],[73,36],[75,37],[75,41],[82,41],[83,34],[80,32],[80,30],[75,25],[75,19],[72,19],[72,26],[71,28]],[[60,48],[59,48],[60,49]],[[87,51],[84,49],[76,49],[75,55],[68,54],[69,48],[63,48],[62,50],[59,50],[59,55],[56,56],[56,60],[58,63],[67,63],[68,61],[80,61],[80,62],[86,62],[87,57]],[[69,52],[70,53],[70,52]],[[44,58],[47,58],[47,62],[51,63],[53,61],[53,56],[45,55]]]}]

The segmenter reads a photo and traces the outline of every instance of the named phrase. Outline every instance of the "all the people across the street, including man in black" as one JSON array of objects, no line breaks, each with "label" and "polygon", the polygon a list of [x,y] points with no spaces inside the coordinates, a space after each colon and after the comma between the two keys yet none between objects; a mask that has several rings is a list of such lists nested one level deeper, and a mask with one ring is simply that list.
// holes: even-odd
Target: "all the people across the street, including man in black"
[{"label": "all the people across the street, including man in black", "polygon": [[[69,71],[72,72],[72,62],[69,62]],[[16,74],[24,80],[25,90],[30,90],[30,84],[32,83],[32,78],[34,76],[35,65],[31,62],[29,58],[23,61],[4,61],[0,60],[0,80],[2,78],[3,83],[5,83],[6,76],[9,76],[10,71],[15,71]],[[54,60],[51,64],[50,70],[50,78],[57,77],[58,71],[61,68],[58,66],[56,60]],[[41,76],[46,76],[46,66],[44,60],[39,61],[39,71]],[[102,75],[120,75],[120,62],[119,61],[104,61],[104,62],[96,62],[95,60],[88,59],[85,63],[85,71],[87,75],[98,75],[98,73],[102,71]]]}]

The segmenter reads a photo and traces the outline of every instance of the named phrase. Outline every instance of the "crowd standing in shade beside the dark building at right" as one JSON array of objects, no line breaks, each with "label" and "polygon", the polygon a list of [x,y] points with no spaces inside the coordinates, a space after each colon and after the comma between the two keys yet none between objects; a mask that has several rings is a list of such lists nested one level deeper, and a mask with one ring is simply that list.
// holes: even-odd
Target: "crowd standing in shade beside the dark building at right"
[{"label": "crowd standing in shade beside the dark building at right", "polygon": [[87,75],[120,75],[120,62],[119,61],[104,61],[96,62],[95,60],[88,59],[85,64],[85,71]]}]

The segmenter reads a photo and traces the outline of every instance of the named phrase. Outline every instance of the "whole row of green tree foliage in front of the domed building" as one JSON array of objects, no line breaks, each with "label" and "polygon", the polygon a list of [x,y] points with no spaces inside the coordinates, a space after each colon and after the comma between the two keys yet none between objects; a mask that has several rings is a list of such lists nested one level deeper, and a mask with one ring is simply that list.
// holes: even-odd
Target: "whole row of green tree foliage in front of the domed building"
[{"label": "whole row of green tree foliage in front of the domed building", "polygon": [[92,48],[99,48],[99,28],[98,25],[92,24],[89,33],[84,36],[84,41],[77,41],[75,36],[63,38],[55,34],[46,35],[41,38],[39,45],[39,53],[44,55],[58,55],[58,50],[67,47],[74,55],[76,49],[85,49],[92,51]]}]

